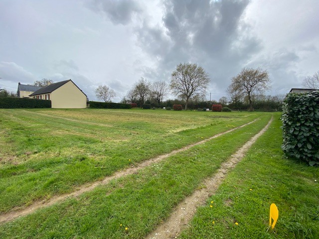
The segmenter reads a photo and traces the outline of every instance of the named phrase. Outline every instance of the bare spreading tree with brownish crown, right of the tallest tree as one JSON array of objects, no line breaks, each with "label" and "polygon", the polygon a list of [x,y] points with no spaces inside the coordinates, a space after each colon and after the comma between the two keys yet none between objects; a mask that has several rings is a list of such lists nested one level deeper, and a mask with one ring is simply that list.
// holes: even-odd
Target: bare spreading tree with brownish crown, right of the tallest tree
[{"label": "bare spreading tree with brownish crown, right of the tallest tree", "polygon": [[249,102],[249,111],[253,111],[252,94],[254,92],[263,93],[265,90],[271,88],[268,71],[261,68],[243,68],[241,72],[232,78],[232,85],[234,88],[247,93]]}]

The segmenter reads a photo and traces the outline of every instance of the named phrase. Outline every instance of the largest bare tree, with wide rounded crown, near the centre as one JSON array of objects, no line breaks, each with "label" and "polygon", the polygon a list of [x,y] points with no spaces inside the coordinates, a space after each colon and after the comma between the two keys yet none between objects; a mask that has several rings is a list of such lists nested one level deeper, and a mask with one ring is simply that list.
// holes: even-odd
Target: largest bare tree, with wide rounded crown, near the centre
[{"label": "largest bare tree, with wide rounded crown, near the centre", "polygon": [[170,89],[175,95],[185,97],[185,110],[191,96],[204,95],[210,82],[208,74],[201,66],[191,63],[180,63],[171,74]]}]

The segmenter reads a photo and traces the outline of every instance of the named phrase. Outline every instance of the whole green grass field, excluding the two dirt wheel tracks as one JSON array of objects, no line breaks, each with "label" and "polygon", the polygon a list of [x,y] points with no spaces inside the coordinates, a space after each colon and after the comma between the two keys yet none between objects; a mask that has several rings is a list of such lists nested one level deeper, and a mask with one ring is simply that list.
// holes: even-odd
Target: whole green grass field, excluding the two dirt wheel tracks
[{"label": "whole green grass field, excluding the two dirt wheel tracks", "polygon": [[[181,238],[319,235],[318,168],[283,158],[280,114],[274,116],[270,129]],[[269,113],[239,112],[0,110],[0,143],[5,145],[0,151],[1,212],[71,192],[257,119],[136,174],[2,224],[0,238],[144,238],[270,118]],[[275,231],[267,232],[272,202],[280,219]]]}]

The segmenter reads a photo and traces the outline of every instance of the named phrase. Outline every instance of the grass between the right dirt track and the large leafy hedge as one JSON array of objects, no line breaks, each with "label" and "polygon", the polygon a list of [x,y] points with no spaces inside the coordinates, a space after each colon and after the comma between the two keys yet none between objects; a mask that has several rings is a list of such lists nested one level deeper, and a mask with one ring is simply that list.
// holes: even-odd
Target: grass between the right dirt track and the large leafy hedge
[{"label": "grass between the right dirt track and the large leafy hedge", "polygon": [[[274,120],[180,238],[319,238],[319,168],[284,157],[280,126]],[[274,230],[272,203],[279,210]]]}]

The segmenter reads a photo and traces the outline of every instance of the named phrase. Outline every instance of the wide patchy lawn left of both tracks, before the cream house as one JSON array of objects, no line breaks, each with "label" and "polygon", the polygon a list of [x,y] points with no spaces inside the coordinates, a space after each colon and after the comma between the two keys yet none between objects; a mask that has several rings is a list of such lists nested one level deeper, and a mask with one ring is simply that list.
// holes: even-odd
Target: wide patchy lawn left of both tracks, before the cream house
[{"label": "wide patchy lawn left of both tracks, before the cream house", "polygon": [[[262,113],[0,110],[0,212],[252,121]],[[129,161],[131,159],[131,161]]]}]

